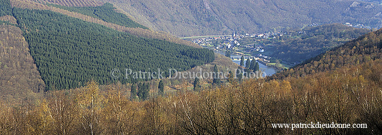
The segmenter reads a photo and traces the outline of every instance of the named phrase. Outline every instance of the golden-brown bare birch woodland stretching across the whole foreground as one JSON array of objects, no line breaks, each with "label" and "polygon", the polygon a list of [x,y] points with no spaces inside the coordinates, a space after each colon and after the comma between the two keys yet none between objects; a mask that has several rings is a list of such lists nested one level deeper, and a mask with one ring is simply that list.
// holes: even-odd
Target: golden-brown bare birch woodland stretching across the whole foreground
[{"label": "golden-brown bare birch woodland stretching across the whole foreground", "polygon": [[[340,53],[331,53],[330,57],[347,58],[348,53],[356,53],[362,60],[361,53],[374,56],[369,52],[380,50],[381,31],[347,43],[360,45],[354,50],[343,47]],[[17,107],[0,104],[3,108],[0,131],[5,134],[64,131],[68,134],[381,134],[382,60],[380,54],[374,54],[375,59],[362,64],[350,62],[341,66],[344,64],[335,62],[339,68],[303,77],[250,79],[200,92],[181,89],[176,94],[152,96],[142,102],[129,101],[130,95],[119,85],[101,87],[90,82],[76,90],[50,91],[40,102],[24,101]],[[310,122],[367,124],[367,128],[291,130],[271,125]]]}]

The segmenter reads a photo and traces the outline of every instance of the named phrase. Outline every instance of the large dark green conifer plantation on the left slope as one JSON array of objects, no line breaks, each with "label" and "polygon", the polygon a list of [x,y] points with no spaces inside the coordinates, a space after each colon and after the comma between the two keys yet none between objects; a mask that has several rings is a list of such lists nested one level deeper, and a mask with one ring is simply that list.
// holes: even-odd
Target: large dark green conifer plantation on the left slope
[{"label": "large dark green conifer plantation on the left slope", "polygon": [[[149,78],[124,78],[124,69],[153,72],[159,68],[169,75],[169,68],[186,70],[214,60],[212,50],[140,38],[52,11],[13,8],[13,16],[46,90],[76,88],[91,79],[101,85],[145,81]],[[113,69],[122,76],[112,78]]]}]

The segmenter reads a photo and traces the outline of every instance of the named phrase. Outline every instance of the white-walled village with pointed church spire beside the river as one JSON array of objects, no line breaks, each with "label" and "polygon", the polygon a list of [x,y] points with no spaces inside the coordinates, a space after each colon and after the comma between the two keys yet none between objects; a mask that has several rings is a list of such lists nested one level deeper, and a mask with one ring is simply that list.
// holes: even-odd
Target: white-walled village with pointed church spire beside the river
[{"label": "white-walled village with pointed church spire beside the river", "polygon": [[[352,26],[354,28],[366,28],[366,29],[378,29],[364,24],[352,24],[349,22],[342,23],[346,26]],[[312,23],[308,26],[321,25],[318,23]],[[295,34],[289,34],[283,32],[265,32],[265,33],[255,33],[255,34],[244,34],[239,35],[233,31],[232,35],[225,36],[206,36],[202,38],[197,38],[192,40],[194,43],[201,45],[204,48],[213,49],[215,51],[226,52],[230,51],[232,55],[235,56],[247,56],[247,57],[257,57],[261,62],[270,63],[272,58],[271,48],[266,46],[263,41],[271,39],[282,39],[291,37],[293,35],[303,34],[305,31],[297,31]],[[231,58],[233,59],[233,58]],[[290,63],[291,65],[299,64],[300,62]]]}]

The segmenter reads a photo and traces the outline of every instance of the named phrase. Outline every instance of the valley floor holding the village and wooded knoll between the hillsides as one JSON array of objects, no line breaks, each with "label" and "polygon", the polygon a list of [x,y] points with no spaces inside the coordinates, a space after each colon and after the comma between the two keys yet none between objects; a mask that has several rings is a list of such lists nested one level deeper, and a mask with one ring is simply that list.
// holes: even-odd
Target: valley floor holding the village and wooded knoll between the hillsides
[{"label": "valley floor holding the village and wooded knoll between the hillsides", "polygon": [[[311,24],[304,29],[285,32],[268,32],[226,36],[200,36],[184,38],[204,48],[213,49],[235,61],[241,56],[255,57],[268,67],[289,69],[322,52],[371,32],[369,26],[360,24]],[[263,65],[262,64],[262,65]],[[274,72],[272,72],[273,74]]]}]

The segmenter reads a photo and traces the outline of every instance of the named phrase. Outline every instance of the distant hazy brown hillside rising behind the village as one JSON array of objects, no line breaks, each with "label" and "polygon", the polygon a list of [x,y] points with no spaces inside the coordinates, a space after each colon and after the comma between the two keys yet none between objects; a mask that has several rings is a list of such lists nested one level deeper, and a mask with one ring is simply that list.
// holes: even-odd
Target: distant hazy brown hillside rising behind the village
[{"label": "distant hazy brown hillside rising behind the village", "polygon": [[123,9],[135,21],[152,30],[179,37],[229,35],[233,30],[245,34],[295,29],[312,23],[351,22],[382,26],[381,5],[351,0],[100,1]]}]

